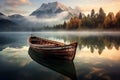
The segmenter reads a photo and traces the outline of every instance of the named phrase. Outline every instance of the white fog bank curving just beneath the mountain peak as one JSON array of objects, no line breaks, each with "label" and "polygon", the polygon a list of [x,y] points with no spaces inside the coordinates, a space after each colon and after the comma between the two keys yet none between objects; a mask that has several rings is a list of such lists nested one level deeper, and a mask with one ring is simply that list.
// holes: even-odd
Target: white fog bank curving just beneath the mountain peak
[{"label": "white fog bank curving just beneath the mountain peak", "polygon": [[[54,16],[49,16],[48,18],[37,18],[36,16],[28,16],[26,17],[26,20],[32,24],[35,24],[35,26],[53,26],[56,24],[61,24],[64,22],[65,18],[68,16],[68,12],[62,12],[59,14],[56,14]],[[66,19],[67,20],[67,19]],[[31,24],[31,25],[32,25]],[[33,26],[33,25],[32,25]]]}]

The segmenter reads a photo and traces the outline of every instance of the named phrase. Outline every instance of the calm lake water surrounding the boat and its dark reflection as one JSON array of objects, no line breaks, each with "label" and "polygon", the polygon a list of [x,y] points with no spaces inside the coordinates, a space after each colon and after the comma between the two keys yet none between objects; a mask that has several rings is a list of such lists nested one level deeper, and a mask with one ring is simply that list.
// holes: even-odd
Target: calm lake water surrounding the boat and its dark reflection
[{"label": "calm lake water surrounding the boat and its dark reflection", "polygon": [[[30,34],[66,44],[78,42],[72,65],[66,67],[61,61],[50,68],[47,60],[43,62],[47,67],[35,61],[29,54]],[[60,73],[59,66],[66,70]],[[74,71],[76,78],[67,71]],[[0,32],[0,80],[71,79],[120,80],[120,32]]]}]

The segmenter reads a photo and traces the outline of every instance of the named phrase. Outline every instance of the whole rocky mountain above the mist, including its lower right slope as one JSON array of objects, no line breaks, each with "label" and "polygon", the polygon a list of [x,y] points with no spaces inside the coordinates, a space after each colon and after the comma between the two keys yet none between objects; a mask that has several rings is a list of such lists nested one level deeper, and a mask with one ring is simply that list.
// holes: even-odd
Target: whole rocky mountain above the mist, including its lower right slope
[{"label": "whole rocky mountain above the mist, including its lower right slope", "polygon": [[32,12],[30,16],[36,16],[38,18],[50,18],[55,17],[61,13],[63,13],[62,15],[66,15],[66,17],[73,17],[78,16],[80,10],[72,9],[60,2],[51,2],[43,3],[41,7]]}]

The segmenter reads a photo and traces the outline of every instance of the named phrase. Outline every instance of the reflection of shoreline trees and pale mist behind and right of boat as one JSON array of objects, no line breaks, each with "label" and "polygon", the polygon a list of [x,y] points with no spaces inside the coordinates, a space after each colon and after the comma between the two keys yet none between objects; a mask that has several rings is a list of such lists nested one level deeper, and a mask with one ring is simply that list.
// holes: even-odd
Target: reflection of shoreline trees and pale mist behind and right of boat
[{"label": "reflection of shoreline trees and pale mist behind and right of boat", "polygon": [[[37,34],[38,35],[38,34]],[[115,47],[116,50],[119,50],[120,47],[120,33],[110,33],[110,34],[102,34],[102,33],[92,33],[81,34],[81,33],[49,33],[47,34],[39,34],[38,36],[62,41],[64,43],[72,43],[74,41],[78,42],[79,50],[87,47],[91,53],[94,53],[94,50],[97,49],[99,54],[102,54],[105,47],[109,50],[112,50]]]}]

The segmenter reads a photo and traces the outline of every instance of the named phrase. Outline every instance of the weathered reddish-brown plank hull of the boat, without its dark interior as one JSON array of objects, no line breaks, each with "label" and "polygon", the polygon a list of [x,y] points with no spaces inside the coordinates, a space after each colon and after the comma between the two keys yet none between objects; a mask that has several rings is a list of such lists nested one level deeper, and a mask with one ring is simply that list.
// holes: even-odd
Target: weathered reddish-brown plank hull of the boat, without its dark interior
[{"label": "weathered reddish-brown plank hull of the boat, without its dark interior", "polygon": [[[38,37],[37,37],[38,38]],[[41,44],[32,44],[32,42],[30,42],[31,37],[28,39],[29,40],[29,44],[30,44],[30,48],[32,50],[34,50],[37,54],[42,54],[45,57],[50,57],[50,58],[59,58],[59,59],[65,59],[65,60],[73,60],[75,57],[75,53],[76,53],[76,47],[77,47],[77,43],[74,42],[70,45],[65,45],[63,43],[56,43],[55,42],[49,42],[48,46],[41,46]],[[41,38],[38,38],[40,41]],[[44,40],[44,39],[43,39]],[[46,40],[47,41],[47,40]]]}]

